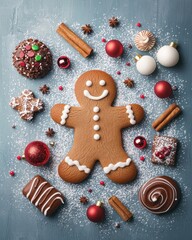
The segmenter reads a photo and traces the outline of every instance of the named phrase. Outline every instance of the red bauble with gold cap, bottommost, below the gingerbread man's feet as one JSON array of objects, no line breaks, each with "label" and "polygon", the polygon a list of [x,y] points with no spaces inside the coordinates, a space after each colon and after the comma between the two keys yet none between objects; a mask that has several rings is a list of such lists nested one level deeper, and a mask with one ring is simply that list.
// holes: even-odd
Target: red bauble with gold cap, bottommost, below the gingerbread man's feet
[{"label": "red bauble with gold cap, bottommost, below the gingerbread man's feet", "polygon": [[97,201],[96,204],[91,205],[87,209],[87,217],[91,222],[101,222],[105,218],[105,209],[102,203]]}]

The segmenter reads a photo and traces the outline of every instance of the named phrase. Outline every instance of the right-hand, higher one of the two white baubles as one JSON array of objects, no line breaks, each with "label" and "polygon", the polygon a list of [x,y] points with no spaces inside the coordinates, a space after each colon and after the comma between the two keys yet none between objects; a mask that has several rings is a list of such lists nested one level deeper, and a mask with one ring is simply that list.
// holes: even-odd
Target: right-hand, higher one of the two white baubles
[{"label": "right-hand, higher one of the two white baubles", "polygon": [[158,50],[157,60],[164,67],[173,67],[179,61],[179,53],[176,48],[165,45]]}]

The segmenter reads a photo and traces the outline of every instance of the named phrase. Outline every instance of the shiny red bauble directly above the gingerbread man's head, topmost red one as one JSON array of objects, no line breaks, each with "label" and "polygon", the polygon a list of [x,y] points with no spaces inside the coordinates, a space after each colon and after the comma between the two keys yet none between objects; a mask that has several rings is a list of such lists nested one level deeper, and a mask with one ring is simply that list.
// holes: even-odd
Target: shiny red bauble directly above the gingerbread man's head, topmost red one
[{"label": "shiny red bauble directly above the gingerbread man's head, topmost red one", "polygon": [[110,57],[120,57],[123,54],[123,45],[119,40],[110,40],[106,46],[105,51]]}]

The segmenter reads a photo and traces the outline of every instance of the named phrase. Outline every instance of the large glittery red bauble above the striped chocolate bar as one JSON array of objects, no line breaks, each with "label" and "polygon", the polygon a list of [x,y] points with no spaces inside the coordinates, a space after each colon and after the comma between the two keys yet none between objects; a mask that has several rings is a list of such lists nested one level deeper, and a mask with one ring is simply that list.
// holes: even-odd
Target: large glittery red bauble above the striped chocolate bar
[{"label": "large glittery red bauble above the striped chocolate bar", "polygon": [[34,141],[25,148],[25,159],[34,166],[45,165],[50,158],[48,146],[41,141]]}]

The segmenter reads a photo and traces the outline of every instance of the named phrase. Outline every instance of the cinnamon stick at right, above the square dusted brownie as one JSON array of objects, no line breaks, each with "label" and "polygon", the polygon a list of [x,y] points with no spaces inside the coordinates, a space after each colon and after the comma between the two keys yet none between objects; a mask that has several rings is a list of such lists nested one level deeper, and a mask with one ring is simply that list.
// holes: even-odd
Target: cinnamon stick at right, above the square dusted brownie
[{"label": "cinnamon stick at right, above the square dusted brownie", "polygon": [[173,120],[181,109],[175,103],[171,104],[153,123],[152,127],[156,131],[161,131],[171,120]]}]

